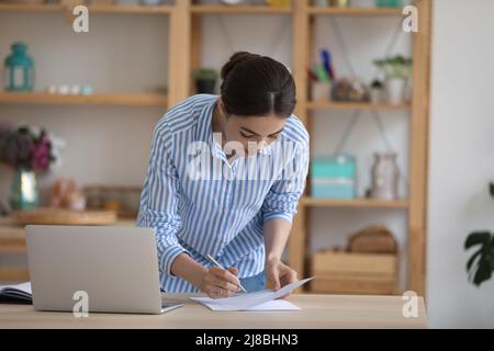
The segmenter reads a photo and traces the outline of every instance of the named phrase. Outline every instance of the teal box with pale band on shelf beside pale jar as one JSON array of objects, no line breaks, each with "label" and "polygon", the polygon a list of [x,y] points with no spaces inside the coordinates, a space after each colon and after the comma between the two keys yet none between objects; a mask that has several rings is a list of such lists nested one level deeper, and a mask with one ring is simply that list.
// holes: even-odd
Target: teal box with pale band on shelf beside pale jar
[{"label": "teal box with pale band on shelf beside pale jar", "polygon": [[317,158],[311,162],[311,195],[324,199],[355,199],[357,165],[350,155]]}]

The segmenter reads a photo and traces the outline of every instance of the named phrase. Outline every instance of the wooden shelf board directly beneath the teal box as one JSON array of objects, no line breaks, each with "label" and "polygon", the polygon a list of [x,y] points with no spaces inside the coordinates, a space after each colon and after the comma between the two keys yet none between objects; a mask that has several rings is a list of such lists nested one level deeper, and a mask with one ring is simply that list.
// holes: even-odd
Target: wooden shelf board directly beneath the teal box
[{"label": "wooden shelf board directly beneath the teal box", "polygon": [[357,207],[357,208],[407,208],[408,201],[406,200],[371,200],[371,199],[355,199],[355,200],[338,200],[338,199],[316,199],[302,197],[302,205],[308,207]]}]

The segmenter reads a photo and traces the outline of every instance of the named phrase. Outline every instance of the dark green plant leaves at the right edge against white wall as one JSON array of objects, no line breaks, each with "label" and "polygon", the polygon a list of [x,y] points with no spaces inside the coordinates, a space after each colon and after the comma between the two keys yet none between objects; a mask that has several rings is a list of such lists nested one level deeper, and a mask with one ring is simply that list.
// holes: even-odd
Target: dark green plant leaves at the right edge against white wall
[{"label": "dark green plant leaves at the right edge against white wall", "polygon": [[[490,184],[494,197],[494,183]],[[465,250],[478,247],[478,250],[467,262],[469,280],[476,286],[487,281],[494,271],[494,234],[490,230],[474,231],[464,241]]]}]

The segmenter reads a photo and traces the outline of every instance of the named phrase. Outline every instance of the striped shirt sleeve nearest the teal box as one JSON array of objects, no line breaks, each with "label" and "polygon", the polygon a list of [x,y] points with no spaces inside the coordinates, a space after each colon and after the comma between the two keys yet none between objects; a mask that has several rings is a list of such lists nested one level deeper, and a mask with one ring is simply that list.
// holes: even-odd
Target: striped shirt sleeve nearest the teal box
[{"label": "striped shirt sleeve nearest the teal box", "polygon": [[262,219],[283,218],[290,223],[296,214],[308,172],[308,144],[300,144],[291,162],[268,192],[262,203]]}]

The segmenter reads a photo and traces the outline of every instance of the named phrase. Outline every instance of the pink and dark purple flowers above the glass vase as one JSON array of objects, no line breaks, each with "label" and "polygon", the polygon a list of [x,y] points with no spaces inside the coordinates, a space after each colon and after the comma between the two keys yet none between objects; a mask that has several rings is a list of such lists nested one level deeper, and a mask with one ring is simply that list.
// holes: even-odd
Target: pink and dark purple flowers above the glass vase
[{"label": "pink and dark purple flowers above the glass vase", "polygon": [[0,162],[15,170],[48,171],[60,161],[64,141],[45,129],[0,125]]}]

